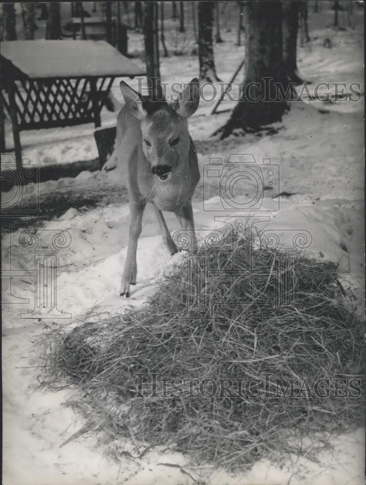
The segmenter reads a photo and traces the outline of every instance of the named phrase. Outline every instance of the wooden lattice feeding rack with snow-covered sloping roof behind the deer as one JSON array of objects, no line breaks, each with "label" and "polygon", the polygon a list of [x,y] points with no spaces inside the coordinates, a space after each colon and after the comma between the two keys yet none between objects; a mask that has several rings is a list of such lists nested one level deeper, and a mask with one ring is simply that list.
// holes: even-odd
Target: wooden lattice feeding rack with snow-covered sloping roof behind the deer
[{"label": "wooden lattice feeding rack with snow-covered sloping roof behind the deer", "polygon": [[114,79],[145,74],[103,40],[2,42],[0,54],[1,150],[5,151],[5,109],[19,166],[21,130],[84,123],[97,128]]}]

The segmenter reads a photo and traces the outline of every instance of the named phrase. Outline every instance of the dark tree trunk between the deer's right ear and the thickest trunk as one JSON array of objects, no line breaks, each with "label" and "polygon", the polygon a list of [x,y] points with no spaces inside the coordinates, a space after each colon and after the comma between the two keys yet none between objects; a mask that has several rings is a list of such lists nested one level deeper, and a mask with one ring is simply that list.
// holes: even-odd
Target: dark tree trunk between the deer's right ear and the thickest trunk
[{"label": "dark tree trunk between the deer's right ear and the thickest trunk", "polygon": [[212,47],[213,1],[198,2],[198,58],[199,78],[202,81],[220,81],[216,75]]}]

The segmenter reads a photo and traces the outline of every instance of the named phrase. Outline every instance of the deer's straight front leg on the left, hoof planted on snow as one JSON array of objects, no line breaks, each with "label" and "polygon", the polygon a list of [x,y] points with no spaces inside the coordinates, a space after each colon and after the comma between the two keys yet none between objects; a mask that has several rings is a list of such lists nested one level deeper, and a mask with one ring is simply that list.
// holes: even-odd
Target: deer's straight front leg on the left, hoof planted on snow
[{"label": "deer's straight front leg on the left, hoof planted on snow", "polygon": [[130,296],[130,284],[136,284],[137,262],[136,251],[137,242],[141,234],[141,221],[144,212],[145,202],[130,201],[130,229],[128,233],[128,248],[124,269],[121,279],[120,296]]}]

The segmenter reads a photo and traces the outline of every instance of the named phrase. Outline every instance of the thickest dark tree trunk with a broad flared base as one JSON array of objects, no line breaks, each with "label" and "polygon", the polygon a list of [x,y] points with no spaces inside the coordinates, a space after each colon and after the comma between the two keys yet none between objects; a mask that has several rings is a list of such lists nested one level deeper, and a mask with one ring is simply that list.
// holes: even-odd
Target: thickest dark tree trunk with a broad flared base
[{"label": "thickest dark tree trunk with a broad flared base", "polygon": [[228,123],[219,130],[221,139],[235,128],[253,131],[280,121],[289,107],[286,102],[289,85],[282,62],[281,2],[248,1],[247,22],[247,69],[241,100]]}]

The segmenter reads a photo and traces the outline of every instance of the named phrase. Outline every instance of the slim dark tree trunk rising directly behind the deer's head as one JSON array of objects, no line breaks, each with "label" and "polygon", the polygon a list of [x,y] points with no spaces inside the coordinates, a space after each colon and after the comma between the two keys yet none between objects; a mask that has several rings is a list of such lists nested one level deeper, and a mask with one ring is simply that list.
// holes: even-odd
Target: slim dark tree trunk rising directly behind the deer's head
[{"label": "slim dark tree trunk rising directly behind the deer's head", "polygon": [[144,40],[146,74],[151,99],[161,99],[159,65],[158,11],[156,1],[144,2]]}]

